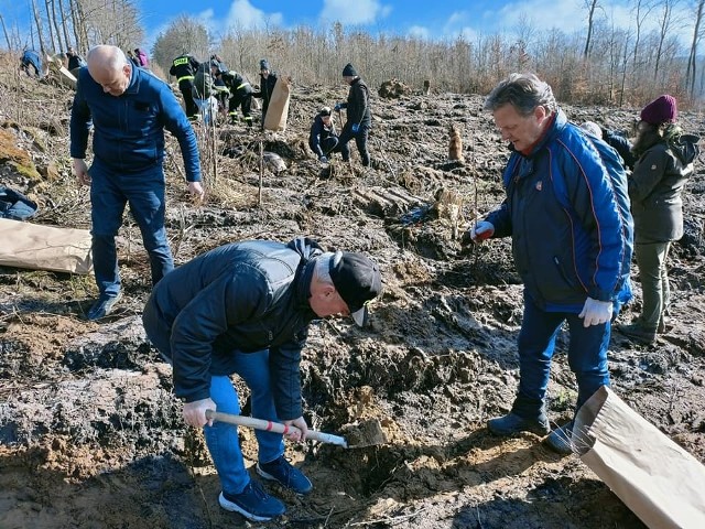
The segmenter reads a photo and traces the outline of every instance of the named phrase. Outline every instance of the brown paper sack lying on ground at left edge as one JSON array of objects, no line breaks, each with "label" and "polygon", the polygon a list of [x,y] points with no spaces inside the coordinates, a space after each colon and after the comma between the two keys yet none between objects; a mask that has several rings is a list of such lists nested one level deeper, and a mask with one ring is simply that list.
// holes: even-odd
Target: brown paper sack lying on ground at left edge
[{"label": "brown paper sack lying on ground at left edge", "polygon": [[90,231],[0,218],[0,266],[89,273]]}]

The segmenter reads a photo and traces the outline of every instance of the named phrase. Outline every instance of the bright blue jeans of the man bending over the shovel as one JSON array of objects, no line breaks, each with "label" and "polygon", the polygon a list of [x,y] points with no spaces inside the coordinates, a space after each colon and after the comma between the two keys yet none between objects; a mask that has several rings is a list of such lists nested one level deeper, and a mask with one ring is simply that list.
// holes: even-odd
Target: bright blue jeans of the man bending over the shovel
[{"label": "bright blue jeans of the man bending over the shovel", "polygon": [[[276,421],[274,397],[269,371],[269,350],[257,353],[232,353],[236,359],[237,373],[251,391],[252,417],[269,421]],[[240,404],[235,386],[227,376],[210,378],[210,398],[216,403],[217,411],[225,413],[240,413]],[[215,421],[213,427],[204,427],[206,445],[213,457],[213,464],[218,471],[223,490],[228,494],[240,494],[250,483],[250,476],[245,468],[238,428],[234,424]],[[259,461],[269,463],[284,453],[284,441],[281,433],[256,430],[259,445]]]}]

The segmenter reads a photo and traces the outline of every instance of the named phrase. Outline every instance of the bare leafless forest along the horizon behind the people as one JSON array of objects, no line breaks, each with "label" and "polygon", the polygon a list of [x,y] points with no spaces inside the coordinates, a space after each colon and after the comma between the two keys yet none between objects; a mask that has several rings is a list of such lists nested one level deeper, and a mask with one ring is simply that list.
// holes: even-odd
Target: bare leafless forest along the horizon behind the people
[{"label": "bare leafless forest along the horizon behind the people", "polygon": [[[579,0],[576,0],[579,1]],[[46,54],[69,45],[85,54],[96,44],[140,47],[145,30],[138,0],[29,0],[30,34],[8,28],[6,45],[18,54],[34,47]],[[232,69],[256,80],[259,60],[302,85],[340,83],[351,62],[371,86],[397,78],[412,88],[431,83],[434,91],[487,94],[512,72],[534,72],[556,97],[572,104],[640,106],[670,93],[683,108],[699,110],[705,94],[705,0],[632,0],[632,25],[610,20],[606,0],[583,0],[585,28],[566,33],[550,21],[539,26],[527,17],[511,32],[422,39],[371,34],[340,23],[311,28],[230,26],[214,34],[204,23],[180,15],[148,53],[152,71],[167,78],[172,60],[188,52],[199,61],[217,53]],[[690,13],[690,15],[683,15]],[[649,21],[650,24],[647,24]],[[655,22],[655,24],[654,24]],[[647,26],[649,30],[647,30]],[[688,45],[676,34],[691,34]]]}]

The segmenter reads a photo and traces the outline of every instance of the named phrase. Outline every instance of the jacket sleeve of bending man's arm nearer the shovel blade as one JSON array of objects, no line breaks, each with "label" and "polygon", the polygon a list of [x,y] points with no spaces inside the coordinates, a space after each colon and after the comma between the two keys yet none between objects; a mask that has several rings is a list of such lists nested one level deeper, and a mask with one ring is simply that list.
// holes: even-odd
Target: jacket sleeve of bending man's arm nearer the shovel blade
[{"label": "jacket sleeve of bending man's arm nearer the shovel blade", "polygon": [[282,421],[299,419],[303,415],[301,399],[301,350],[306,344],[308,330],[279,347],[269,350],[269,370],[274,393],[276,417]]}]

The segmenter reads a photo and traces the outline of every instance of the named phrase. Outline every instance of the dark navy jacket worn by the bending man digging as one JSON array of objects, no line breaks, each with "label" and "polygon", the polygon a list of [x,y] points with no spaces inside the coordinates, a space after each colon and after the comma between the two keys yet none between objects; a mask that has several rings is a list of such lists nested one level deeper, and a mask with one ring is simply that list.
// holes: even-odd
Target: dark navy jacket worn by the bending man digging
[{"label": "dark navy jacket worn by the bending man digging", "polygon": [[174,392],[209,397],[210,376],[235,373],[232,352],[269,348],[276,413],[302,415],[299,363],[308,323],[314,258],[321,247],[256,240],[225,245],[156,283],[143,312],[148,336],[174,366]]}]

